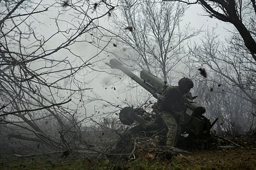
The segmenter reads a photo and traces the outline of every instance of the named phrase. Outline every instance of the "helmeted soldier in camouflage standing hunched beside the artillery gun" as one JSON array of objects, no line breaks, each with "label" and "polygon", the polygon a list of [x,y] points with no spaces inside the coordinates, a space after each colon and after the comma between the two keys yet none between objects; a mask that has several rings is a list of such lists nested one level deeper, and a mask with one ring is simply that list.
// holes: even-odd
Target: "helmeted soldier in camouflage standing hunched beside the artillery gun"
[{"label": "helmeted soldier in camouflage standing hunched beside the artillery gun", "polygon": [[166,124],[166,146],[175,146],[180,135],[180,119],[186,111],[185,95],[193,88],[194,83],[189,78],[179,80],[179,86],[166,88],[162,97],[158,98],[157,109]]}]

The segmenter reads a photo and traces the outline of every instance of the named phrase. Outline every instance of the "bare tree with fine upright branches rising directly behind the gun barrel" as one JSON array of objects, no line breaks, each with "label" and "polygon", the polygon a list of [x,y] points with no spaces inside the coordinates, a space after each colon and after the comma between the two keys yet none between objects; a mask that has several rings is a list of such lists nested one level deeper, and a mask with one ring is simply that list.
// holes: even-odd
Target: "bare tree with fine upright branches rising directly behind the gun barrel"
[{"label": "bare tree with fine upright branches rising directly behind the gun barrel", "polygon": [[187,5],[160,1],[121,1],[121,15],[113,19],[118,32],[118,57],[131,69],[145,69],[171,81],[180,61],[187,55],[188,39],[197,35],[182,17]]}]

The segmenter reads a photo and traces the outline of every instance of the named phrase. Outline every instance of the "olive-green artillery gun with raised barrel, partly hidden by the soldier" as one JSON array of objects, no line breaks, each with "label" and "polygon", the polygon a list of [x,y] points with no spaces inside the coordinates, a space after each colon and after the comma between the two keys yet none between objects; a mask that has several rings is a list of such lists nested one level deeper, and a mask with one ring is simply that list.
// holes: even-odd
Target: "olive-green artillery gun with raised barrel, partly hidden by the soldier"
[{"label": "olive-green artillery gun with raised barrel, partly hidden by the soldier", "polygon": [[[137,75],[130,72],[129,69],[124,67],[123,64],[116,59],[110,60],[108,66],[112,69],[119,69],[124,72],[127,76],[132,78],[132,80],[136,81],[140,86],[148,90],[148,92],[157,99],[162,96],[167,87],[171,87],[167,82],[155,77],[146,70],[141,70],[140,77],[137,77]],[[191,93],[188,93],[185,96],[185,106],[187,108],[183,113],[183,120],[180,122],[181,134],[188,134],[189,136],[196,138],[205,138],[210,136],[210,129],[216,123],[218,118],[211,123],[210,120],[203,115],[205,113],[205,108],[193,101]],[[140,129],[143,129],[143,131],[152,131],[154,129],[164,128],[164,123],[163,120],[161,120],[161,117],[157,117],[155,121],[147,121],[138,116],[139,112],[141,113],[141,110],[133,109],[132,107],[124,107],[121,109],[119,118],[123,124],[127,125],[132,124],[135,120],[138,121]],[[160,115],[160,113],[158,114]],[[135,127],[131,131],[136,133],[138,132],[138,128]]]}]

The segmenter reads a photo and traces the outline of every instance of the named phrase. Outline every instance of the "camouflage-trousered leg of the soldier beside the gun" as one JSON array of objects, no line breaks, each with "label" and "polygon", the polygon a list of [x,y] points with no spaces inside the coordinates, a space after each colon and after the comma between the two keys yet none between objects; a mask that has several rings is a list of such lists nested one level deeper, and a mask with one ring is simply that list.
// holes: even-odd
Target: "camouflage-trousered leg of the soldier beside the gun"
[{"label": "camouflage-trousered leg of the soldier beside the gun", "polygon": [[161,116],[168,127],[168,132],[166,134],[166,146],[175,146],[180,134],[179,124],[177,123],[176,118],[174,118],[174,116],[169,112],[162,112]]}]

